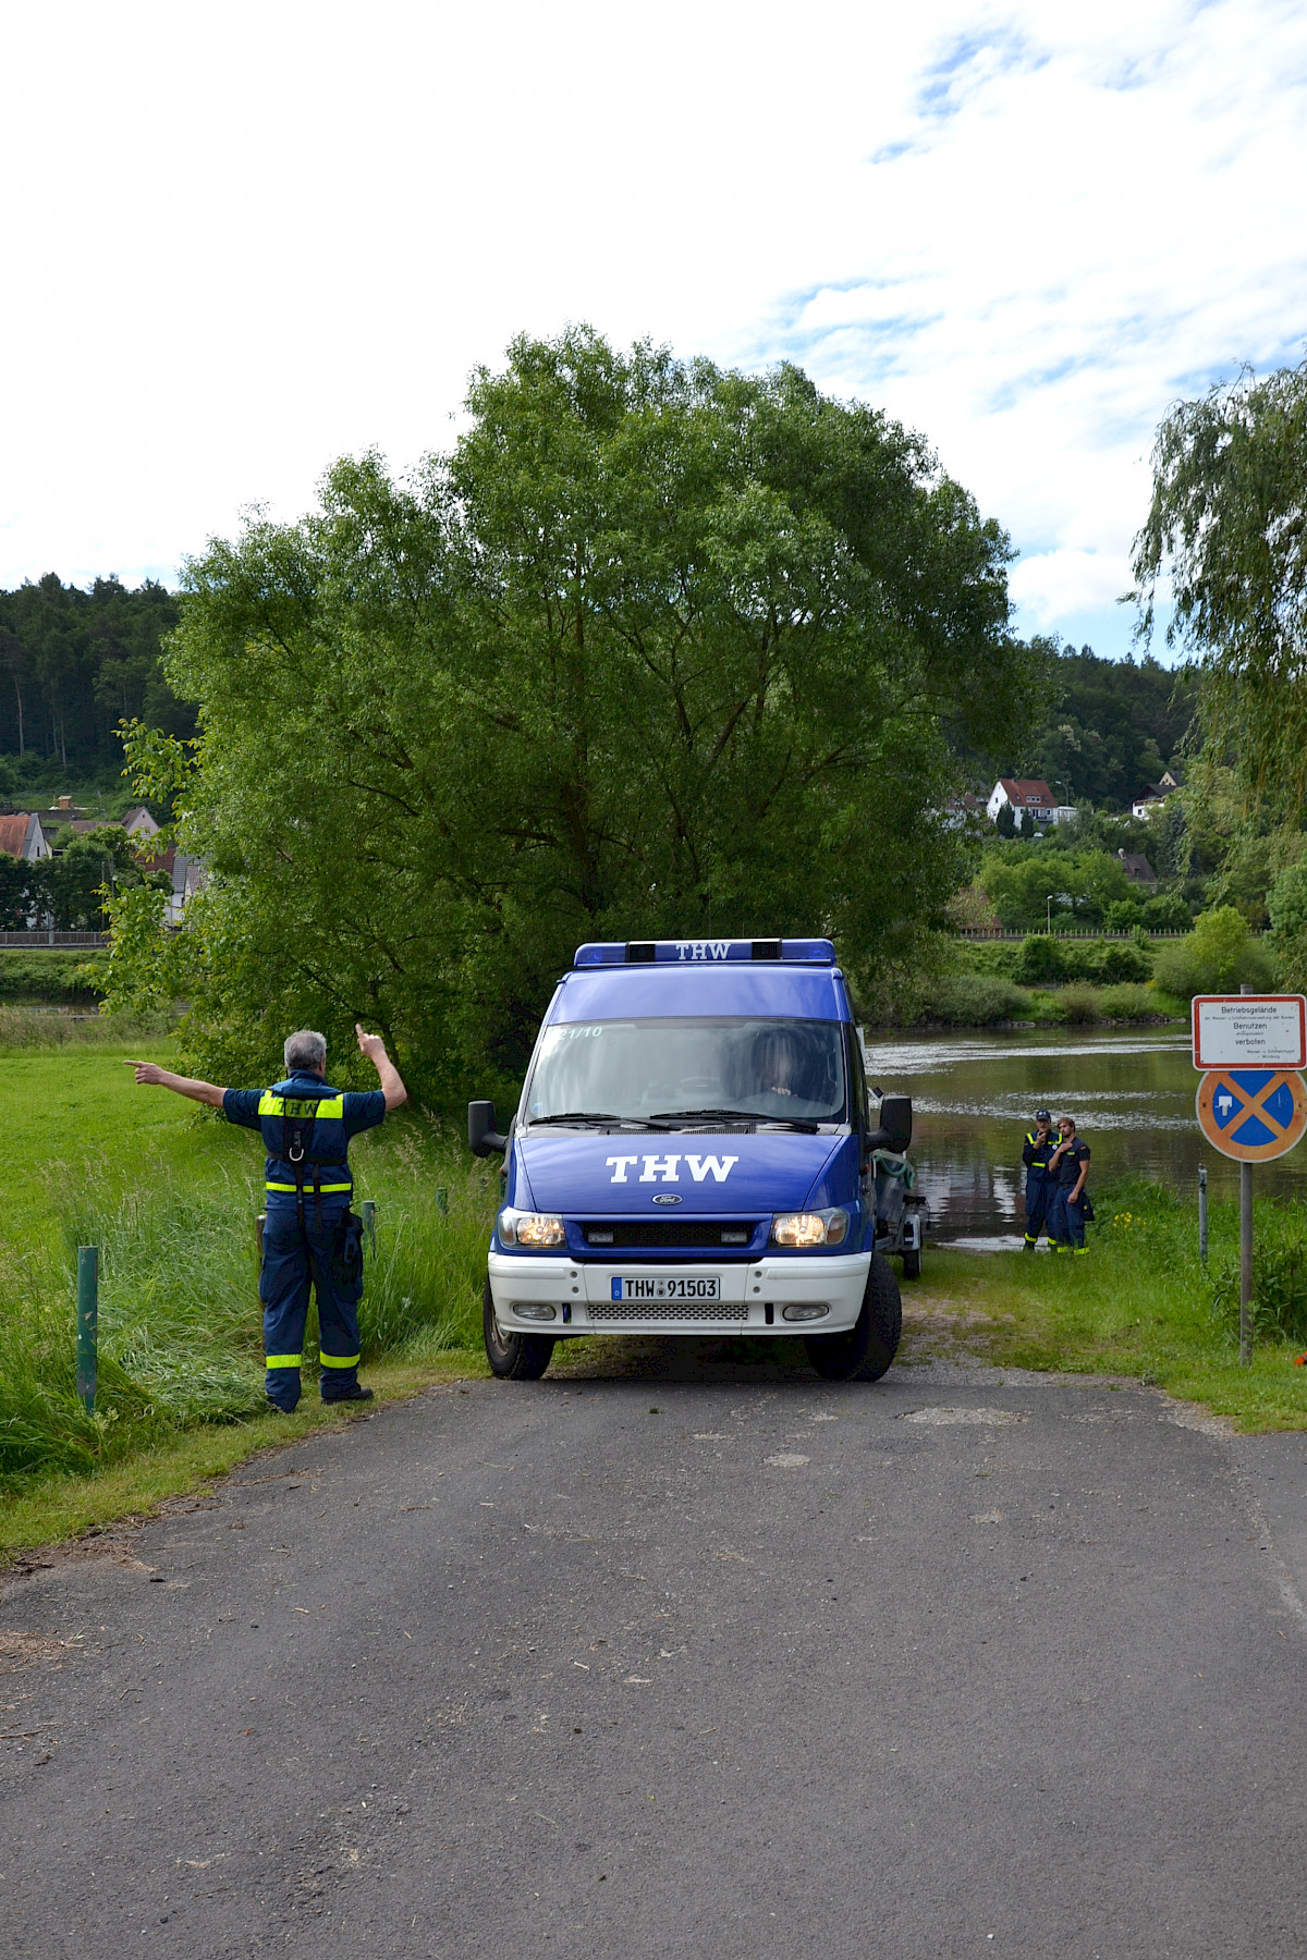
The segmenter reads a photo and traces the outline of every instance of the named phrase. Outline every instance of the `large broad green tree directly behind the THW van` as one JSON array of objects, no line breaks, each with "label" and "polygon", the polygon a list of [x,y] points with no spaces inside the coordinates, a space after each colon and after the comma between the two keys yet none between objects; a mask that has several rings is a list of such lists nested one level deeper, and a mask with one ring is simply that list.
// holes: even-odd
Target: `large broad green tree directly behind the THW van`
[{"label": "large broad green tree directly behind the THW van", "polygon": [[218,1072],[363,1017],[453,1098],[521,1068],[580,939],[890,962],[962,882],[948,745],[1007,739],[1029,653],[1003,533],[917,437],[796,368],[584,329],[515,341],[468,408],[411,486],[341,463],[188,568],[180,835],[214,876],[184,984]]}]

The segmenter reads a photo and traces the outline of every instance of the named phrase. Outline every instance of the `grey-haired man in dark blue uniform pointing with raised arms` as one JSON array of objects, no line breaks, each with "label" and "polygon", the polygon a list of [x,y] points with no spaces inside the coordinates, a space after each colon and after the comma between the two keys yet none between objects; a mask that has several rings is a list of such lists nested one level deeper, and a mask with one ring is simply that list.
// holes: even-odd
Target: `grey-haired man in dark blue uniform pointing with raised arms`
[{"label": "grey-haired man in dark blue uniform pointing with raised arms", "polygon": [[361,1027],[355,1033],[380,1078],[380,1088],[363,1096],[327,1088],[327,1043],[308,1027],[286,1039],[286,1080],[270,1090],[221,1090],[155,1062],[127,1062],[139,1084],[190,1096],[221,1109],[229,1123],[263,1133],[266,1221],[259,1298],[266,1392],[286,1413],[300,1401],[310,1282],[317,1292],[321,1399],[372,1399],[372,1390],[359,1386],[363,1245],[349,1207],[349,1139],[408,1102],[408,1090],[382,1037]]}]

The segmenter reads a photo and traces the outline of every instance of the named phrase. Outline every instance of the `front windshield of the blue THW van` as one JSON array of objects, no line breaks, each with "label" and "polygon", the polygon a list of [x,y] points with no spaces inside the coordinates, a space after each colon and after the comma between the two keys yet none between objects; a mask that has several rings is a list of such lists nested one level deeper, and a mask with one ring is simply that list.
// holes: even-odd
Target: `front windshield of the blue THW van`
[{"label": "front windshield of the blue THW van", "polygon": [[839,1021],[566,1023],[545,1029],[527,1088],[531,1123],[566,1115],[843,1123],[845,1109]]}]

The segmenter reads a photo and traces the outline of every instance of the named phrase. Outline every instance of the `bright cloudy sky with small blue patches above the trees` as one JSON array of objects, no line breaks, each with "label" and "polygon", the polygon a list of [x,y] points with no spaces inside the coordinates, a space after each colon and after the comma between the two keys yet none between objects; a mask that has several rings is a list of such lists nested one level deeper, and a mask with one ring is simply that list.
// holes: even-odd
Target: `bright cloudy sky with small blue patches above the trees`
[{"label": "bright cloudy sky with small blue patches above the trees", "polygon": [[45,0],[0,29],[0,584],[172,578],[586,319],[925,431],[1123,653],[1152,431],[1307,355],[1282,0]]}]

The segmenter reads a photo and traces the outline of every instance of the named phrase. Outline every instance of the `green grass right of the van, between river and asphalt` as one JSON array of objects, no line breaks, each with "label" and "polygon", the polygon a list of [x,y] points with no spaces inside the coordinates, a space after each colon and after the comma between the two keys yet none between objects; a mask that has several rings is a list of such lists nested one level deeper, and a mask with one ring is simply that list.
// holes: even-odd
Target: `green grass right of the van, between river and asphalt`
[{"label": "green grass right of the van, between river and asphalt", "polygon": [[[1209,1264],[1197,1211],[1160,1186],[1095,1190],[1088,1256],[927,1249],[907,1307],[933,1341],[1021,1368],[1135,1376],[1236,1427],[1307,1429],[1307,1209],[1256,1205],[1252,1364],[1238,1362],[1238,1207],[1211,1205]],[[929,1350],[929,1345],[927,1345]]]}]

